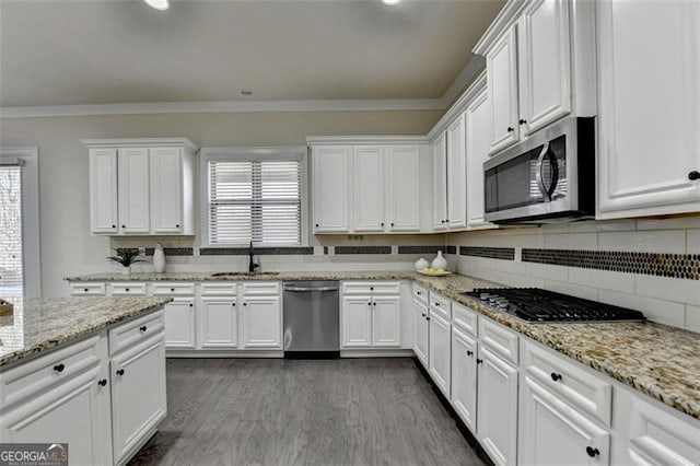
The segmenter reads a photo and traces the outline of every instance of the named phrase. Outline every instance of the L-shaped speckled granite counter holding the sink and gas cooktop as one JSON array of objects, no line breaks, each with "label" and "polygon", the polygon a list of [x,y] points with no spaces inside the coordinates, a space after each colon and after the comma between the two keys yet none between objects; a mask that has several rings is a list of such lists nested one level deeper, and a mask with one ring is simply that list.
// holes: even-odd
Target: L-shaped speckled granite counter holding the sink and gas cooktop
[{"label": "L-shaped speckled granite counter holding the sink and gas cooktop", "polygon": [[212,277],[211,272],[135,273],[129,278],[101,273],[68,280],[412,280],[700,419],[700,334],[654,323],[528,324],[462,295],[474,288],[499,287],[476,278],[425,277],[413,271],[303,271],[230,277]]}]

